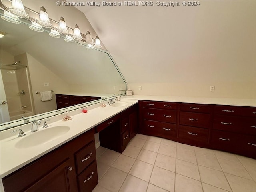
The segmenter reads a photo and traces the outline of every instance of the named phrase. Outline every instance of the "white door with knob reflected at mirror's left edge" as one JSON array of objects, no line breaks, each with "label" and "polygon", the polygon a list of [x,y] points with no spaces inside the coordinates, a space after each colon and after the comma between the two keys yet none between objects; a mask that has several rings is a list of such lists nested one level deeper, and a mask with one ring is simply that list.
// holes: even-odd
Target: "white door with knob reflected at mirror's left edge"
[{"label": "white door with knob reflected at mirror's left edge", "polygon": [[4,82],[2,79],[2,74],[0,72],[0,123],[10,121],[8,104],[6,102],[6,95],[4,91]]}]

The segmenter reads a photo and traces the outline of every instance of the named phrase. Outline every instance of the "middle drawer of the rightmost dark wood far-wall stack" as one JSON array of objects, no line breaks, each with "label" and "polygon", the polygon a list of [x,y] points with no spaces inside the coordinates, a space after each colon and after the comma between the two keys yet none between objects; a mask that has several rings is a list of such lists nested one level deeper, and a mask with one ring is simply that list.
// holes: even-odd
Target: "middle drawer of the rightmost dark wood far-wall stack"
[{"label": "middle drawer of the rightmost dark wood far-wall stack", "polygon": [[256,119],[214,115],[213,129],[256,135]]}]

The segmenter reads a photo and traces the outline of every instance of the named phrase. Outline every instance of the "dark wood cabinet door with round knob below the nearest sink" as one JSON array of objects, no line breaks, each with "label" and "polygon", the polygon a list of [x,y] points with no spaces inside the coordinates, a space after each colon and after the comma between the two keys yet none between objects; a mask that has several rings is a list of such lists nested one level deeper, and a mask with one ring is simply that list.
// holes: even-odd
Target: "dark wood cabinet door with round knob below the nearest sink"
[{"label": "dark wood cabinet door with round knob below the nearest sink", "polygon": [[70,162],[70,159],[66,160],[25,192],[77,191],[76,171],[74,166],[70,167]]}]

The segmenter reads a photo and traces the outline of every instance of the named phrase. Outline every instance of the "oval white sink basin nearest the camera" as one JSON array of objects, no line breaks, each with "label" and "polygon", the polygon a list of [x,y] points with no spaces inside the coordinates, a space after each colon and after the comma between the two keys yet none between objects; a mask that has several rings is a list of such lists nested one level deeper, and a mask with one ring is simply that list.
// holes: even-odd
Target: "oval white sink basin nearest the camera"
[{"label": "oval white sink basin nearest the camera", "polygon": [[15,144],[15,147],[18,149],[22,148],[29,148],[33,146],[37,146],[40,144],[44,144],[51,140],[54,140],[61,135],[65,134],[70,130],[68,126],[55,126],[55,127],[48,127],[44,130],[40,130],[34,132],[28,136],[24,136],[20,141]]}]

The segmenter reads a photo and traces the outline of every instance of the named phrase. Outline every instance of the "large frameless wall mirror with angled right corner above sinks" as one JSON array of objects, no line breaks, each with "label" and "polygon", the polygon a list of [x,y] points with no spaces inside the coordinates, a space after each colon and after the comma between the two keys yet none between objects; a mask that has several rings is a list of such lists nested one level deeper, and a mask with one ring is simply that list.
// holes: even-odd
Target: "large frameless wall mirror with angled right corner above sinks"
[{"label": "large frameless wall mirror with angled right corner above sinks", "polygon": [[[0,11],[3,16],[4,10]],[[126,81],[106,50],[66,42],[64,36],[53,38],[49,29],[36,32],[30,24],[26,19],[20,19],[20,24],[0,21],[1,33],[5,33],[0,39],[1,130],[26,123],[22,116],[32,120],[61,113],[55,94],[101,99],[124,94]],[[50,101],[42,102],[36,94],[50,90]]]}]

